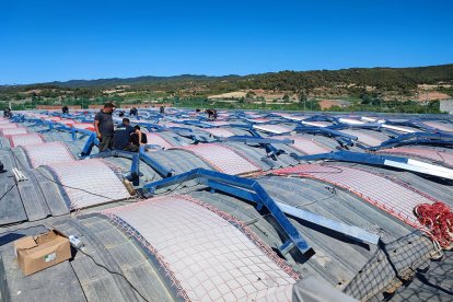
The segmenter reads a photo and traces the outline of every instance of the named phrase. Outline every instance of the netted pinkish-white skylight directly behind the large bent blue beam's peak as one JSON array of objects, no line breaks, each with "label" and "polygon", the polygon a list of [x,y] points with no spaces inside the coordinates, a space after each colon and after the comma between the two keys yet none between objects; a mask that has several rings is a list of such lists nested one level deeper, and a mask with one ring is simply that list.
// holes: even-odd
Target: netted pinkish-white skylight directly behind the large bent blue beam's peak
[{"label": "netted pinkish-white skylight directly behind the large bent blue beam's peak", "polygon": [[195,153],[216,170],[226,174],[245,174],[260,171],[260,167],[225,146],[217,143],[193,144],[174,148]]}]

